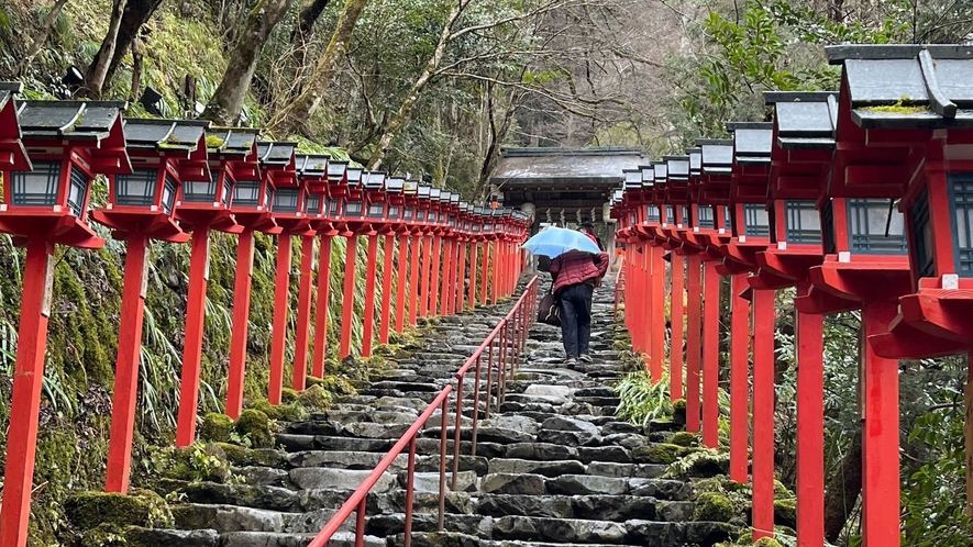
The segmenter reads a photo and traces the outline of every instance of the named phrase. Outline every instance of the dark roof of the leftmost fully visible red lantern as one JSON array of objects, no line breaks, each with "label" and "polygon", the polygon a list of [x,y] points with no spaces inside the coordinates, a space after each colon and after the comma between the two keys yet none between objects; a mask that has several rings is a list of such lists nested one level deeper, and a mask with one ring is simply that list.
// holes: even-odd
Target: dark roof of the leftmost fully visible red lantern
[{"label": "dark roof of the leftmost fully visible red lantern", "polygon": [[120,101],[22,101],[18,121],[24,139],[101,141],[109,137],[125,105]]}]

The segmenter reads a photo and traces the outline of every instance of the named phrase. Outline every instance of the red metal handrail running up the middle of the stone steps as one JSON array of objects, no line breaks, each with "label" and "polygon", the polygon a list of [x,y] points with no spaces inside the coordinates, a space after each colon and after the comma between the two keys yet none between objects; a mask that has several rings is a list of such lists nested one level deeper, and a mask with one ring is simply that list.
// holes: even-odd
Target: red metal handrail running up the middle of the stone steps
[{"label": "red metal handrail running up the middle of the stone steps", "polygon": [[[488,420],[490,415],[490,398],[493,390],[493,372],[494,357],[497,355],[497,412],[504,403],[506,394],[506,383],[508,376],[510,378],[516,373],[517,361],[527,346],[528,332],[531,324],[538,316],[538,278],[534,277],[527,284],[523,293],[513,304],[513,308],[504,316],[490,334],[480,343],[479,347],[473,351],[462,367],[456,371],[456,388],[446,386],[439,392],[435,399],[429,403],[425,411],[419,416],[408,431],[399,438],[399,440],[385,455],[378,466],[368,475],[362,484],[355,489],[352,495],[344,502],[338,513],[328,521],[328,524],[311,540],[308,547],[324,547],[332,536],[341,528],[341,526],[355,513],[355,547],[364,547],[365,545],[365,512],[368,492],[378,482],[402,450],[409,447],[409,464],[406,479],[406,522],[405,522],[405,547],[409,547],[412,542],[412,502],[414,496],[414,478],[416,478],[416,448],[419,432],[424,427],[425,422],[432,417],[436,410],[442,412],[442,423],[440,427],[440,481],[439,481],[439,531],[443,531],[443,518],[445,514],[446,498],[446,435],[447,435],[447,411],[450,394],[456,392],[456,417],[453,424],[453,477],[450,489],[456,488],[456,477],[460,472],[460,438],[462,433],[463,420],[463,390],[466,373],[471,367],[475,366],[474,379],[474,404],[473,404],[473,424],[472,434],[472,455],[476,455],[476,434],[479,427],[479,384],[482,378],[483,357],[487,358],[487,388],[486,388],[486,412],[484,420]],[[496,344],[495,344],[496,343]],[[496,345],[496,351],[495,351]],[[509,349],[509,350],[508,350]],[[508,362],[510,364],[508,370]]]}]

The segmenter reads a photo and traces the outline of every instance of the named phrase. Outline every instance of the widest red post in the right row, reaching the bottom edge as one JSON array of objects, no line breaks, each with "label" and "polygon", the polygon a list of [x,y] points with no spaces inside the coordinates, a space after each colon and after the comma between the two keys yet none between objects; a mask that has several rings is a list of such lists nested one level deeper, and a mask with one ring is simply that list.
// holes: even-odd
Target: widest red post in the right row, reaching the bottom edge
[{"label": "widest red post in the right row, reaching the bottom edge", "polygon": [[898,361],[875,355],[867,337],[888,332],[896,302],[862,309],[865,347],[861,371],[864,399],[862,432],[862,539],[864,547],[899,544]]}]

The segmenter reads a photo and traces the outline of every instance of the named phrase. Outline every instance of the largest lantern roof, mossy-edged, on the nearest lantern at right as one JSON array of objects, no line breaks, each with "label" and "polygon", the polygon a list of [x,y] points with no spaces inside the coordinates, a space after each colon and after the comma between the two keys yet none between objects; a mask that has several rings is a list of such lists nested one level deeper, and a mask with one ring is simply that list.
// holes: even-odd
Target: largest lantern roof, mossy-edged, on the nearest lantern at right
[{"label": "largest lantern roof, mossy-edged, on the nearest lantern at right", "polygon": [[851,118],[864,129],[973,127],[973,46],[826,47],[844,66]]}]

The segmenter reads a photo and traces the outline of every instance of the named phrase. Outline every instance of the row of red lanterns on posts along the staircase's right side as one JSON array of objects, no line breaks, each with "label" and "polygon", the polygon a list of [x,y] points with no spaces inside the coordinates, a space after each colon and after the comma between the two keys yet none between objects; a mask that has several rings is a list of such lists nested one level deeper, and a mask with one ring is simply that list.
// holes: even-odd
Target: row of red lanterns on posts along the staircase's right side
[{"label": "row of red lanterns on posts along the staircase's right side", "polygon": [[[752,480],[758,538],[774,525],[775,291],[797,289],[797,534],[810,546],[825,539],[822,316],[860,310],[862,535],[898,545],[898,359],[973,350],[973,124],[955,83],[973,78],[973,47],[834,46],[828,56],[842,67],[839,91],[767,92],[773,122],[728,124],[732,138],[624,174],[612,198],[624,295],[649,303],[627,306],[626,322],[661,379],[663,260],[673,348],[685,274],[687,428],[716,447],[719,286],[731,279],[730,478]],[[682,359],[671,353],[674,398]]]}]

